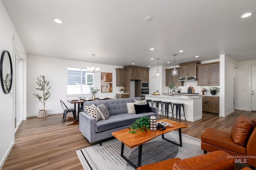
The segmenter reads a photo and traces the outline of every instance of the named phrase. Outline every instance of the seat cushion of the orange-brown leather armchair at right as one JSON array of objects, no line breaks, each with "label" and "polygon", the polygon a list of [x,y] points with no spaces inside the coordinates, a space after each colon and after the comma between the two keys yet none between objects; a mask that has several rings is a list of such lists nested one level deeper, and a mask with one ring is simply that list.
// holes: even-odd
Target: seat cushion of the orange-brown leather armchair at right
[{"label": "seat cushion of the orange-brown leather armchair at right", "polygon": [[[216,147],[220,147],[242,155],[246,155],[246,148],[242,145],[235,143],[232,140],[230,132],[220,131],[208,127],[202,133],[201,141],[202,143],[208,143]],[[204,148],[204,150],[207,149]]]}]

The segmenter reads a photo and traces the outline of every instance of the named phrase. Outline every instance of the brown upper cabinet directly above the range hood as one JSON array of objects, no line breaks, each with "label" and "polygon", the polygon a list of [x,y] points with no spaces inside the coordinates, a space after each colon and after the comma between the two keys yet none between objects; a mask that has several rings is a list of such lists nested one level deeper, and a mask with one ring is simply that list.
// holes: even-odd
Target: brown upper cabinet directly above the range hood
[{"label": "brown upper cabinet directly above the range hood", "polygon": [[196,76],[196,64],[200,64],[199,61],[190,63],[182,63],[180,66],[180,77]]}]

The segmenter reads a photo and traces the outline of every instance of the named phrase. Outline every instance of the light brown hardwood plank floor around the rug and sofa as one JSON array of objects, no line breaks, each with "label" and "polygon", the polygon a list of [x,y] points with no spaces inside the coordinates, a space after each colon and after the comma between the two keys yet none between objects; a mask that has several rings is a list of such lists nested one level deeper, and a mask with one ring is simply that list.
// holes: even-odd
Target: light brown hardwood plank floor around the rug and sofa
[{"label": "light brown hardwood plank floor around the rug and sofa", "polygon": [[[206,127],[230,131],[234,120],[239,115],[256,118],[256,112],[250,111],[236,110],[227,117],[203,113],[199,121],[182,120],[182,123],[191,126],[191,128],[182,129],[182,133],[200,139]],[[90,144],[80,133],[79,125],[67,126],[72,122],[61,122],[62,116],[61,113],[48,115],[46,118],[28,117],[23,121],[15,135],[15,145],[2,170],[82,170],[76,150],[98,143]],[[68,113],[68,116],[71,117],[72,114]],[[167,117],[159,116],[159,118]],[[176,120],[174,118],[174,121]]]}]

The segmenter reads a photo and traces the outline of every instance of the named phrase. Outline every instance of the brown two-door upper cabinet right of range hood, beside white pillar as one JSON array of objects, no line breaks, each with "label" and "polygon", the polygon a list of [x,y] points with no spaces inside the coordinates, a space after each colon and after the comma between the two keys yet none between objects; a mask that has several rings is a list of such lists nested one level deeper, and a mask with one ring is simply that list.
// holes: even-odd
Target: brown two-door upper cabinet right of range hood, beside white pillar
[{"label": "brown two-door upper cabinet right of range hood, beside white pillar", "polygon": [[220,85],[220,62],[197,65],[198,86]]}]

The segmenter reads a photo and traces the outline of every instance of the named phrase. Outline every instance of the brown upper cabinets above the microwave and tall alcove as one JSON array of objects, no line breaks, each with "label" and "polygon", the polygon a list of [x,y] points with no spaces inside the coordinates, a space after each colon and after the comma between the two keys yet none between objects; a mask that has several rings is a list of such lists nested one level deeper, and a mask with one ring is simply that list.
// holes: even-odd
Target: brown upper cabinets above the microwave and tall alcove
[{"label": "brown upper cabinets above the microwave and tall alcove", "polygon": [[130,80],[149,81],[149,68],[125,66]]}]

